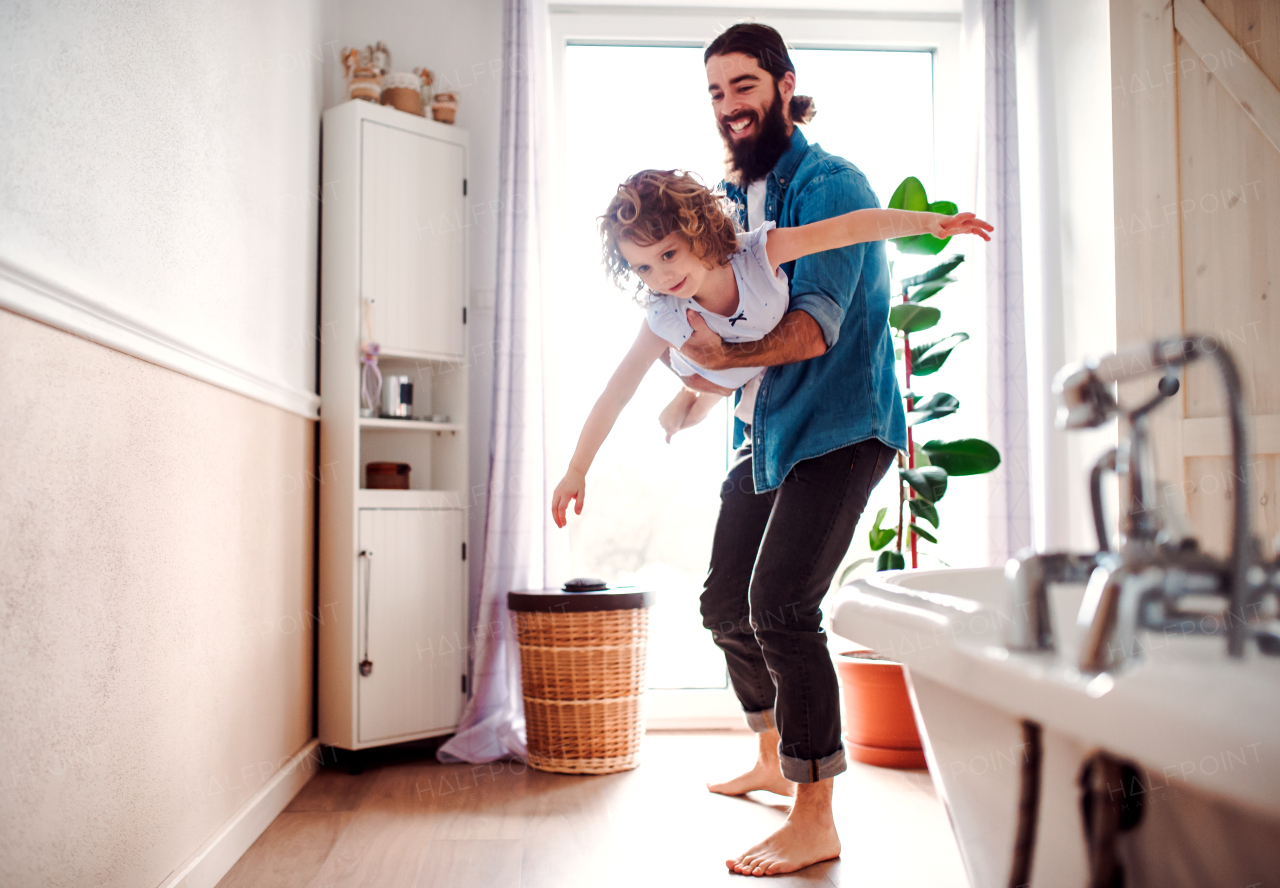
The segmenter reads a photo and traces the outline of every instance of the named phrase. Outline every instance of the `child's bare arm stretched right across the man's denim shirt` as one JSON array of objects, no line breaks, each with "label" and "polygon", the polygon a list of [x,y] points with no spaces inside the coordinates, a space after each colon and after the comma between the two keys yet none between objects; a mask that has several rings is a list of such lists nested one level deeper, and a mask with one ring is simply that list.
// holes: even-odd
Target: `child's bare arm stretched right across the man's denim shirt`
[{"label": "child's bare arm stretched right across the man's denim shirt", "polygon": [[947,238],[952,234],[977,234],[991,241],[991,225],[972,212],[947,216],[941,212],[913,212],[911,210],[854,210],[831,219],[774,228],[768,234],[769,262],[774,267],[824,250],[837,250],[854,243],[904,238],[911,234],[932,234]]}]

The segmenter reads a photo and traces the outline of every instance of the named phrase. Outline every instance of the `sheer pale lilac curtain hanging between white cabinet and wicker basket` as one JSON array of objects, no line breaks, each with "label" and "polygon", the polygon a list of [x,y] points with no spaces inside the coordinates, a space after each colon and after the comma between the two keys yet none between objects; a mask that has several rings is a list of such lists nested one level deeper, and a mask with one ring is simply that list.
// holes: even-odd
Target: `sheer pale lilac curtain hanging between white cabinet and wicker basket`
[{"label": "sheer pale lilac curtain hanging between white cabinet and wicker basket", "polygon": [[552,253],[552,105],[544,0],[507,0],[499,160],[493,432],[480,596],[471,603],[472,692],[444,761],[524,756],[520,650],[507,592],[562,581],[548,472],[543,296]]}]

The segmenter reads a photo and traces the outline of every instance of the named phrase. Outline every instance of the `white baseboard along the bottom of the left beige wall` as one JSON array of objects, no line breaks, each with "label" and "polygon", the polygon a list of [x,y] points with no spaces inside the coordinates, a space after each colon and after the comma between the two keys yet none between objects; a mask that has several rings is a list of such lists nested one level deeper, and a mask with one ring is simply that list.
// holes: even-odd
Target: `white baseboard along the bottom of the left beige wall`
[{"label": "white baseboard along the bottom of the left beige wall", "polygon": [[161,882],[160,888],[214,888],[221,882],[307,781],[315,777],[319,747],[317,738],[310,740],[196,853]]}]

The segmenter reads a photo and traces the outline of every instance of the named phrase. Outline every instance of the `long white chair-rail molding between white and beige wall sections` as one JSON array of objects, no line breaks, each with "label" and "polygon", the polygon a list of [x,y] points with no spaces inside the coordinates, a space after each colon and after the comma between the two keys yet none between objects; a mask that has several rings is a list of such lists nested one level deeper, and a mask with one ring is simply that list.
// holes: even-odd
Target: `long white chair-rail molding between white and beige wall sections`
[{"label": "long white chair-rail molding between white and beige wall sections", "polygon": [[83,293],[0,258],[0,308],[255,400],[320,416],[320,395],[237,367]]}]

